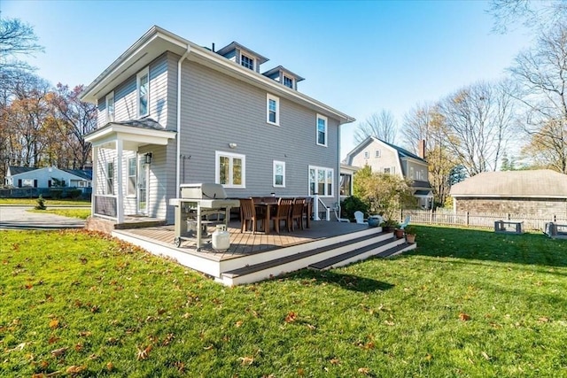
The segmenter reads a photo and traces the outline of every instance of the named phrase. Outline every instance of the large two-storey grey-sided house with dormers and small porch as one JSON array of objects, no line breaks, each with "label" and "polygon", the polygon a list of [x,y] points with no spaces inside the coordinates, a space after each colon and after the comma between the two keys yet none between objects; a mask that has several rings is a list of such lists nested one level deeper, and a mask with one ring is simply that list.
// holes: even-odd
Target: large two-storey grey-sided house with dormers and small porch
[{"label": "large two-storey grey-sided house with dormers and small porch", "polygon": [[353,118],[301,94],[303,78],[232,42],[215,51],[151,27],[82,94],[97,104],[93,214],[174,221],[182,183],[229,197],[339,198],[339,126]]}]

